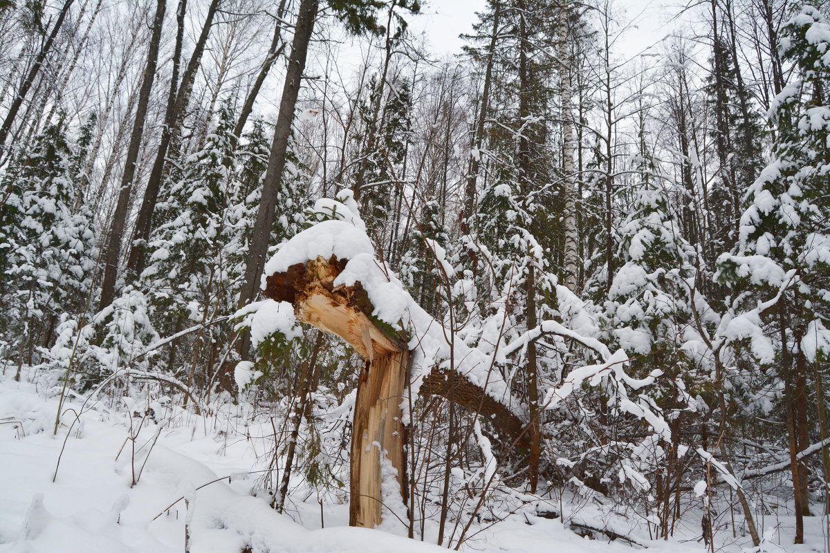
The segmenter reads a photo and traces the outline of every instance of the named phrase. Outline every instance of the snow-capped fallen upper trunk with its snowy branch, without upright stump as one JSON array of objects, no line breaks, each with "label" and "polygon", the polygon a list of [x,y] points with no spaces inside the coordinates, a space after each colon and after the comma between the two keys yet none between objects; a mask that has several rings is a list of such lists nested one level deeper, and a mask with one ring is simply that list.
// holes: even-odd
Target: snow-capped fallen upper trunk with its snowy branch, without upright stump
[{"label": "snow-capped fallen upper trunk with its snowy branch, without upright stump", "polygon": [[[462,405],[466,401],[465,406],[473,412],[490,413],[494,419],[510,419],[506,423],[503,421],[503,428],[509,427],[514,436],[525,434],[528,410],[512,395],[510,384],[498,366],[506,361],[506,356],[543,334],[572,339],[597,352],[603,361],[571,371],[562,384],[548,390],[542,405],[553,408],[583,382],[596,386],[608,376],[605,388],[620,412],[646,420],[664,439],[671,436],[668,424],[652,410],[647,400],[642,397],[630,400],[627,393],[629,388],[638,390],[652,384],[661,371],[652,371],[644,379],[628,376],[623,370],[628,361],[626,353],[622,350],[612,353],[594,337],[584,336],[556,321],[544,321],[509,344],[504,343],[502,328],[492,351],[467,345],[452,328],[421,308],[393,271],[375,257],[364,222],[356,215],[356,206],[348,205],[353,202],[349,196],[344,197],[344,203],[328,199],[318,201],[315,211],[334,214],[336,219],[320,221],[303,230],[282,245],[268,261],[262,277],[262,289],[266,297],[271,298],[267,301],[291,303],[295,309],[300,303],[316,303],[312,309],[318,311],[312,315],[315,320],[305,322],[339,334],[364,357],[371,358],[373,347],[377,349],[384,340],[403,338],[407,349],[413,352],[409,382],[413,395],[417,395],[422,386],[427,393],[437,395],[447,394],[452,387],[455,400],[459,402],[459,396],[463,395]],[[353,313],[349,317],[368,318],[372,322],[368,325],[369,332],[374,334],[354,335],[354,321],[349,323],[348,317],[336,323],[338,328],[331,326],[333,321],[320,321],[320,309],[328,312],[333,308],[340,309],[343,316],[349,312]],[[284,310],[280,311],[285,314]],[[285,327],[284,332],[290,333],[295,319],[281,316],[280,320],[281,324],[267,332],[283,332],[281,327]],[[251,333],[263,333],[256,325],[256,316],[252,321]],[[506,318],[502,325],[505,323]],[[486,397],[482,398],[481,394]],[[402,409],[404,417],[408,418],[408,401],[403,400]]]}]

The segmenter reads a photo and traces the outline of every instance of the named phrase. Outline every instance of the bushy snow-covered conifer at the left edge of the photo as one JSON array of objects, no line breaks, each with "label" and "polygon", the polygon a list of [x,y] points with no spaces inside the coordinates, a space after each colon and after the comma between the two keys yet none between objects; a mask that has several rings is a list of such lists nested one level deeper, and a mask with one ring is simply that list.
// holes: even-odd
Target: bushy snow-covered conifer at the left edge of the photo
[{"label": "bushy snow-covered conifer at the left edge of the photo", "polygon": [[90,293],[97,250],[77,163],[82,156],[61,120],[22,148],[3,179],[0,285],[16,306],[5,324],[27,337],[29,357],[36,342],[51,346],[60,313],[77,316]]}]

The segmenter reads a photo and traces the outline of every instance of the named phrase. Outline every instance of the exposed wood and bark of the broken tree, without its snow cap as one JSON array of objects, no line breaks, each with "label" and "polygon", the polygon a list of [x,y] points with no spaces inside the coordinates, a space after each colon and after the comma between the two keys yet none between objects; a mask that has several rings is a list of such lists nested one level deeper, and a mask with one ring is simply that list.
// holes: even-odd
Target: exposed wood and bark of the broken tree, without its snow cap
[{"label": "exposed wood and bark of the broken tree, without its snow cap", "polygon": [[[383,507],[398,517],[406,514],[401,405],[408,390],[413,352],[403,332],[373,317],[369,295],[359,283],[334,286],[347,262],[332,256],[291,265],[284,273],[268,275],[263,293],[291,303],[300,322],[336,334],[364,358],[352,424],[349,524],[374,527],[382,521]],[[460,373],[436,366],[423,379],[420,393],[440,395],[481,415],[496,428],[506,448],[527,448],[525,423]],[[400,496],[395,497],[395,492]],[[396,513],[395,507],[402,512]]]}]

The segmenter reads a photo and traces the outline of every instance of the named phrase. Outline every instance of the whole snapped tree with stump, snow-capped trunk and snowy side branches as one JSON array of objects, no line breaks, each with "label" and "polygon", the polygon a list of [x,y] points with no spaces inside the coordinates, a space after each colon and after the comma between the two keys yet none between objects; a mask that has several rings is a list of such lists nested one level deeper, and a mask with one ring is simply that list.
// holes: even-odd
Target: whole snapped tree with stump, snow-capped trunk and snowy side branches
[{"label": "whole snapped tree with stump, snow-capped trunk and snowy side branches", "polygon": [[[557,408],[583,384],[602,386],[614,410],[647,421],[660,439],[671,438],[668,424],[648,400],[640,394],[629,399],[627,392],[651,384],[659,371],[639,380],[627,376],[625,352],[612,354],[597,340],[554,321],[542,321],[510,343],[500,334],[486,348],[468,346],[414,302],[376,259],[356,212],[356,206],[318,200],[318,222],[281,245],[265,266],[261,290],[269,299],[235,316],[245,318],[247,323],[237,327],[249,326],[252,338],[274,332],[297,337],[299,321],[341,337],[363,357],[349,467],[352,526],[408,517],[404,446],[409,410],[419,395],[446,398],[476,420],[481,415],[505,453],[524,454],[529,410],[512,395],[500,363],[543,335],[578,343],[601,361],[569,371],[559,386],[540,395],[540,410]],[[489,444],[480,445],[489,454]]]}]

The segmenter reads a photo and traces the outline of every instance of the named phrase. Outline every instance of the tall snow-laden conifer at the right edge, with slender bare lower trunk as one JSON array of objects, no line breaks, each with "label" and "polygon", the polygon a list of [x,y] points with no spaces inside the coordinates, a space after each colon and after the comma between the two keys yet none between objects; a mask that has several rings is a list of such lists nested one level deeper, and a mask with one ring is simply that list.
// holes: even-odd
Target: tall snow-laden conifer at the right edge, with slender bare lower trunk
[{"label": "tall snow-laden conifer at the right edge, with slender bare lower trunk", "polygon": [[734,289],[736,323],[727,337],[747,343],[756,360],[778,367],[795,542],[802,543],[808,468],[797,454],[809,445],[808,361],[827,355],[830,343],[830,25],[818,10],[803,7],[784,26],[781,51],[798,78],[775,99],[775,158],[747,191],[737,253],[720,257],[717,276]]}]

